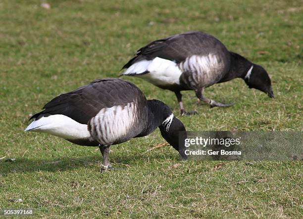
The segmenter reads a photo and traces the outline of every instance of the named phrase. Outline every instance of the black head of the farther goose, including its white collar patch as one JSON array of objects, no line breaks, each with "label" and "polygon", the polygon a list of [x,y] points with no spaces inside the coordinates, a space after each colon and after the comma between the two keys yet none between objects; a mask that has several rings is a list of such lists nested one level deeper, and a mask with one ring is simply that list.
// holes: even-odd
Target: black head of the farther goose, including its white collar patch
[{"label": "black head of the farther goose, including its white collar patch", "polygon": [[251,72],[248,71],[244,78],[244,81],[249,86],[249,88],[261,90],[270,98],[274,97],[269,75],[261,66],[253,64],[253,69]]}]

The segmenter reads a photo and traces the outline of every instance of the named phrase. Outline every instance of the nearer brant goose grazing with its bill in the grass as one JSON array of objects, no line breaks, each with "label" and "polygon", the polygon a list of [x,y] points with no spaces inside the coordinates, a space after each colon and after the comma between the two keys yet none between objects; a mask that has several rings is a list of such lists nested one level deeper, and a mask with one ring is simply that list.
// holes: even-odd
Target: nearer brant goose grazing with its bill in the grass
[{"label": "nearer brant goose grazing with its bill in the grass", "polygon": [[[146,136],[157,127],[183,159],[184,125],[159,100],[147,100],[142,91],[121,79],[100,79],[53,98],[25,131],[52,134],[72,143],[99,146],[101,170],[111,168],[109,147],[133,137]],[[179,149],[179,131],[180,144]]]}]

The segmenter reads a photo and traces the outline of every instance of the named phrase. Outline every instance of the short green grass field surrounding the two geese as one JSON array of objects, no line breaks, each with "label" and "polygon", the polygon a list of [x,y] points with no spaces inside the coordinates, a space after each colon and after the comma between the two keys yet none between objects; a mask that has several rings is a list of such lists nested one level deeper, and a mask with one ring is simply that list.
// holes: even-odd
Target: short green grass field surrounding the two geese
[{"label": "short green grass field surrounding the two geese", "polygon": [[[115,170],[100,174],[98,148],[23,132],[52,97],[116,77],[136,49],[192,30],[262,65],[276,98],[240,79],[205,90],[235,102],[230,108],[209,109],[183,92],[186,109],[199,111],[181,118],[188,131],[302,131],[302,1],[50,0],[49,10],[42,2],[0,1],[0,209],[45,218],[303,218],[302,162],[180,162],[170,146],[146,153],[164,142],[155,131],[112,146]],[[124,79],[178,115],[172,92]]]}]

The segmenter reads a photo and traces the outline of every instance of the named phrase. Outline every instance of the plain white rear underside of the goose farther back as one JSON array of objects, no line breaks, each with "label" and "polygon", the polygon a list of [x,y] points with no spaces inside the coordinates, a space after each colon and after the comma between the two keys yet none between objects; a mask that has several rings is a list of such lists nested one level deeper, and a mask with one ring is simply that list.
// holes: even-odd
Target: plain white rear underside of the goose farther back
[{"label": "plain white rear underside of the goose farther back", "polygon": [[[138,75],[149,71],[148,74]],[[131,65],[123,75],[136,74],[156,86],[180,85],[180,71],[177,64],[173,61],[155,57],[154,59],[142,60]]]}]

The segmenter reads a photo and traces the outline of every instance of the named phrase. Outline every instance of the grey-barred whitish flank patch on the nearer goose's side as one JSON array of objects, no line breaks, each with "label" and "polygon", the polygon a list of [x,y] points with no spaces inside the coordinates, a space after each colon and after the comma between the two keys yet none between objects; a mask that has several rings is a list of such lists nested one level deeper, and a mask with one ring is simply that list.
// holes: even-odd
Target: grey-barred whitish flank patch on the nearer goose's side
[{"label": "grey-barred whitish flank patch on the nearer goose's side", "polygon": [[136,120],[135,103],[101,109],[90,121],[91,130],[95,132],[92,135],[96,135],[101,144],[111,144],[132,131]]}]

